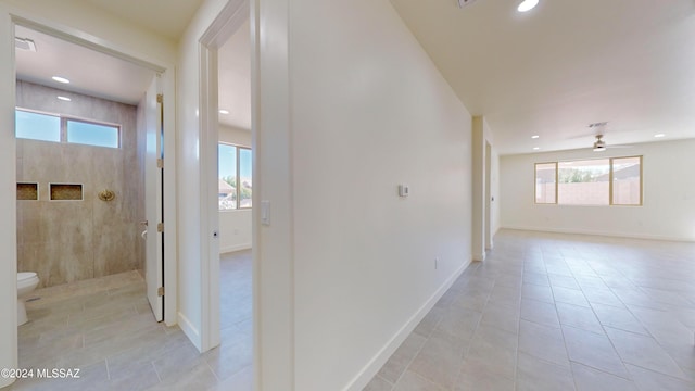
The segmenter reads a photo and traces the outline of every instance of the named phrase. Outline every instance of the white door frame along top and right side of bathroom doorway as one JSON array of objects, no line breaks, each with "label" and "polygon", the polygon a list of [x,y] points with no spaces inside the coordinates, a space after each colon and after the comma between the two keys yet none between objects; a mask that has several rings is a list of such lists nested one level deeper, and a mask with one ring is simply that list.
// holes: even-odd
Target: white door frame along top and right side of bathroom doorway
[{"label": "white door frame along top and right side of bathroom doorway", "polygon": [[[91,36],[75,28],[71,28],[61,24],[54,24],[49,21],[37,22],[31,15],[20,15],[10,13],[12,25],[22,25],[29,27],[40,33],[45,33],[65,41],[84,46],[86,48],[118,58],[121,60],[129,61],[134,64],[150,68],[162,75],[162,90],[164,94],[163,110],[164,110],[164,154],[165,166],[164,171],[164,219],[167,223],[164,230],[164,285],[166,287],[166,297],[164,301],[164,323],[167,326],[177,324],[177,247],[176,247],[176,124],[175,124],[175,75],[174,65],[166,63],[156,63],[138,56],[137,54],[129,54],[124,51],[123,48],[116,48],[111,46],[99,37]],[[14,28],[12,28],[11,39],[14,41]],[[14,49],[14,48],[13,48]],[[13,54],[13,53],[12,53]],[[11,56],[14,64],[14,54]],[[12,97],[7,97],[3,102],[11,102],[12,111],[14,111],[15,97],[14,89],[5,91],[4,93],[11,93]],[[8,111],[9,108],[2,108],[3,111]],[[14,152],[13,152],[14,153]],[[13,176],[12,182],[15,181]],[[2,184],[9,186],[9,184]],[[12,184],[12,188],[14,184]],[[11,229],[16,230],[16,219],[13,220]],[[16,300],[16,289],[15,289]]]}]

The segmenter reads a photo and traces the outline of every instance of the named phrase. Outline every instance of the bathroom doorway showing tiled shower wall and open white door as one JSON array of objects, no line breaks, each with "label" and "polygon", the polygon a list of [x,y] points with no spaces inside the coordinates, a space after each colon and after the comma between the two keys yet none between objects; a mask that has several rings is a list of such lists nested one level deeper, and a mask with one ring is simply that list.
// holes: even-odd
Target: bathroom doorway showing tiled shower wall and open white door
[{"label": "bathroom doorway showing tiled shower wall and open white door", "polygon": [[[14,30],[17,270],[40,281],[18,330],[20,364],[29,367],[96,346],[106,356],[128,346],[124,333],[161,335],[157,321],[175,323],[175,311],[164,312],[175,300],[163,298],[162,232],[174,97],[166,105],[164,67],[23,22]],[[122,343],[100,346],[104,330]]]}]

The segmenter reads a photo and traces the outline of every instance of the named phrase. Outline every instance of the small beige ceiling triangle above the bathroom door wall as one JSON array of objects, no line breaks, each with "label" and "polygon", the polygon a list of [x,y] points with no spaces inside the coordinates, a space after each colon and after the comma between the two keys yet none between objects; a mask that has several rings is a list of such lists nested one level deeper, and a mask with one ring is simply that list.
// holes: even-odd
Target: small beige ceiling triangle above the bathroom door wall
[{"label": "small beige ceiling triangle above the bathroom door wall", "polygon": [[178,41],[204,0],[81,0]]}]

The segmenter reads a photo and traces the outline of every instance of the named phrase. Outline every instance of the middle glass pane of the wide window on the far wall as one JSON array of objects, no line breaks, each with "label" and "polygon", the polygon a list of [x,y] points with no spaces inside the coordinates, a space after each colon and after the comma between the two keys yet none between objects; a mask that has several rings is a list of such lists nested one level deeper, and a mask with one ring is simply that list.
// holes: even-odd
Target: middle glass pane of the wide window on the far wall
[{"label": "middle glass pane of the wide window on the far wall", "polygon": [[608,159],[559,162],[557,176],[559,204],[609,204],[610,161]]}]

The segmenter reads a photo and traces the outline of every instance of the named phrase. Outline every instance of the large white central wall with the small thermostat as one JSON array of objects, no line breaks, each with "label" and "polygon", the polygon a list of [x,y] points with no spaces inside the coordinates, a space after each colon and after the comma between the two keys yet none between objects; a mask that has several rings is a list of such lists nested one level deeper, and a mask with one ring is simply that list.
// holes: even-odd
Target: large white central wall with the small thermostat
[{"label": "large white central wall with the small thermostat", "polygon": [[387,0],[290,37],[294,390],[362,390],[470,262],[471,116]]}]

